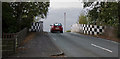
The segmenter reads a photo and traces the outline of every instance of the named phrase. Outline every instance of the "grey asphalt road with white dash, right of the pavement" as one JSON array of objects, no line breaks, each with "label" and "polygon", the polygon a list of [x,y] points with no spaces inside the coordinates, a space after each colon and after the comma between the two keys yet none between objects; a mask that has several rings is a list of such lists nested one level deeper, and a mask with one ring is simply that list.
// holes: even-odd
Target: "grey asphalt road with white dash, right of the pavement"
[{"label": "grey asphalt road with white dash, right of the pavement", "polygon": [[118,57],[118,43],[76,33],[48,33],[67,57]]}]

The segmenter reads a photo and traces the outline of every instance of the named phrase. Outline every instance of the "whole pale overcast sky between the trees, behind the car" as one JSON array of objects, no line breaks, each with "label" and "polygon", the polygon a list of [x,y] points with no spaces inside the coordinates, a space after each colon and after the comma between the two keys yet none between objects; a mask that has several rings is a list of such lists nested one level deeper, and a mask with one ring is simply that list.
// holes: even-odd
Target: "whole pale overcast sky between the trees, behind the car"
[{"label": "whole pale overcast sky between the trees, behind the car", "polygon": [[50,30],[50,24],[60,22],[64,27],[64,12],[66,12],[66,30],[78,21],[83,11],[83,3],[80,0],[50,0],[50,7],[47,18],[44,22],[44,30]]}]

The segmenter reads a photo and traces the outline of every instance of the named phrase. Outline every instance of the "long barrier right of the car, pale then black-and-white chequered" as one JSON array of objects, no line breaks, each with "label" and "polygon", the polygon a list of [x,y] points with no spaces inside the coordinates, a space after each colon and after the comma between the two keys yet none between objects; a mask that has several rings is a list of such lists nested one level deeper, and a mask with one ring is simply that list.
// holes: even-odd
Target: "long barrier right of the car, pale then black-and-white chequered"
[{"label": "long barrier right of the car, pale then black-and-white chequered", "polygon": [[98,35],[104,32],[104,26],[73,24],[71,27],[71,32],[80,32],[89,35]]}]

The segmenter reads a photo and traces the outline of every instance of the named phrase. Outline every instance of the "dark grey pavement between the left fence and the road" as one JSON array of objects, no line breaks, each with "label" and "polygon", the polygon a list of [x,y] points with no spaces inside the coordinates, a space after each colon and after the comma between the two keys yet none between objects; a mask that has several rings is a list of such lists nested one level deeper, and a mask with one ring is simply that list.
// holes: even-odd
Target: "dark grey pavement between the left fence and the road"
[{"label": "dark grey pavement between the left fence and the road", "polygon": [[47,33],[36,33],[32,40],[29,40],[19,53],[10,57],[51,57],[51,55],[57,55],[61,53],[58,47],[52,43],[51,38]]}]

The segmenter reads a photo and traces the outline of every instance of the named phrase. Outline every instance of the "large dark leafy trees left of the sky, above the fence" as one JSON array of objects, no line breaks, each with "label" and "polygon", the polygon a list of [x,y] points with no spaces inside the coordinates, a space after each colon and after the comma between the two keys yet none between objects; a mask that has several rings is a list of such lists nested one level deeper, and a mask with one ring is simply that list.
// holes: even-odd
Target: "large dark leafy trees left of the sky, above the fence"
[{"label": "large dark leafy trees left of the sky, above the fence", "polygon": [[3,2],[2,7],[3,27],[7,26],[3,32],[17,32],[29,27],[36,16],[47,17],[49,2]]}]

